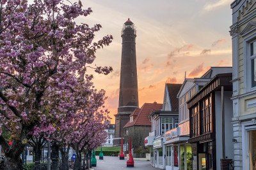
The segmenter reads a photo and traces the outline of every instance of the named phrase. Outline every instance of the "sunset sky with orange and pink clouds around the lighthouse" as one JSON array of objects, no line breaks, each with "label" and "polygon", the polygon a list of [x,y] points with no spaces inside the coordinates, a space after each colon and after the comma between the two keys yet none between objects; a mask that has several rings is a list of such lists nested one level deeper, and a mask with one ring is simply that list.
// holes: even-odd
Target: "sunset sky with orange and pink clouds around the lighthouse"
[{"label": "sunset sky with orange and pink clouds around the lighthouse", "polygon": [[[163,103],[165,83],[200,77],[211,66],[232,66],[229,27],[232,0],[82,0],[93,13],[81,22],[101,24],[97,38],[113,43],[97,52],[95,64],[112,66],[109,75],[95,74],[97,89],[106,90],[112,123],[118,108],[121,30],[131,18],[137,30],[136,55],[140,106]],[[96,38],[96,39],[97,39]]]}]

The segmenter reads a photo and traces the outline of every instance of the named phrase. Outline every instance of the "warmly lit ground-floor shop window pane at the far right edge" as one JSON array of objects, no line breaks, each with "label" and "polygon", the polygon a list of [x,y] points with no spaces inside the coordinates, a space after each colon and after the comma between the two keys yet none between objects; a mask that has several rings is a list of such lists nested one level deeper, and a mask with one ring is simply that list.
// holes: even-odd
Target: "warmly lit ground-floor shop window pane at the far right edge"
[{"label": "warmly lit ground-floor shop window pane at the far right edge", "polygon": [[249,131],[250,170],[256,169],[256,130]]}]

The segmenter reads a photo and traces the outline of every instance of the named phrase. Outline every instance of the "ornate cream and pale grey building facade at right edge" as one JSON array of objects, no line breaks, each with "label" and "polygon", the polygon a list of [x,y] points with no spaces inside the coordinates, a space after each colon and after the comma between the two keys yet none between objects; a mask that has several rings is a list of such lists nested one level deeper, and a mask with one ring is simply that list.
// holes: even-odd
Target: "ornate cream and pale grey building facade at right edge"
[{"label": "ornate cream and pale grey building facade at right edge", "polygon": [[256,168],[256,1],[231,4],[235,169]]}]

